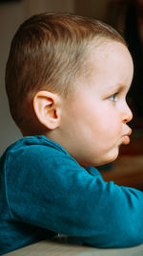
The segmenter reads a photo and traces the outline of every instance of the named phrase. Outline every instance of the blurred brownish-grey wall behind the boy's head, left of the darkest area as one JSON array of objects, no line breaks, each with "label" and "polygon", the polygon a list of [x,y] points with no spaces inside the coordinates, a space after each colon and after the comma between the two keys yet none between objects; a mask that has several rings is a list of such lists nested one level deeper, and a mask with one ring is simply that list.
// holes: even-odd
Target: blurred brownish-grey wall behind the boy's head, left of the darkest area
[{"label": "blurred brownish-grey wall behind the boy's head, left of the darkest area", "polygon": [[5,66],[10,41],[18,26],[37,12],[76,12],[104,19],[109,0],[21,0],[0,4],[0,155],[22,135],[10,117],[5,92]]}]

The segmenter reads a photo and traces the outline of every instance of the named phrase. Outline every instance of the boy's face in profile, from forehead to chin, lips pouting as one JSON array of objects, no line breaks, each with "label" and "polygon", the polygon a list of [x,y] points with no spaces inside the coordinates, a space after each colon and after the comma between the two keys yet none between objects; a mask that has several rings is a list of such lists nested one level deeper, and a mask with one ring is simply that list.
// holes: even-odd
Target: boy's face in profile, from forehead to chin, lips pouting
[{"label": "boy's face in profile, from forehead to chin, lips pouting", "polygon": [[132,112],[126,96],[133,80],[133,60],[121,43],[109,41],[92,53],[91,77],[78,81],[62,115],[62,146],[82,165],[113,161],[129,143]]}]

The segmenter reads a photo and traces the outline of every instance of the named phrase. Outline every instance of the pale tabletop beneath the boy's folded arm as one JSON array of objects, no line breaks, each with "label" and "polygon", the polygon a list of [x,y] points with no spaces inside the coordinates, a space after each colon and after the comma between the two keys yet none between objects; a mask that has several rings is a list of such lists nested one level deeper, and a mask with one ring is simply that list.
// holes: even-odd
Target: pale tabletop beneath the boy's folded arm
[{"label": "pale tabletop beneath the boy's folded arm", "polygon": [[75,238],[55,238],[14,250],[5,256],[141,256],[143,244],[130,248],[99,249],[83,245]]}]

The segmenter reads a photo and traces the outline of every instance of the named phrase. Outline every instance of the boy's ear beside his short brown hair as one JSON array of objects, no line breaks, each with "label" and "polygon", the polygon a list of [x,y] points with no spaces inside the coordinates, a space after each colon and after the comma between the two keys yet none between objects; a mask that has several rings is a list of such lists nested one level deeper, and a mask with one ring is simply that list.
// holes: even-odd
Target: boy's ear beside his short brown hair
[{"label": "boy's ear beside his short brown hair", "polygon": [[60,124],[59,96],[49,91],[39,91],[33,99],[33,109],[38,121],[46,128],[55,129]]}]

